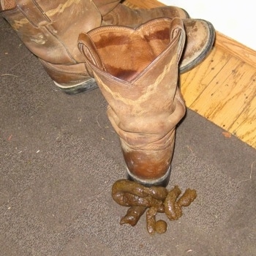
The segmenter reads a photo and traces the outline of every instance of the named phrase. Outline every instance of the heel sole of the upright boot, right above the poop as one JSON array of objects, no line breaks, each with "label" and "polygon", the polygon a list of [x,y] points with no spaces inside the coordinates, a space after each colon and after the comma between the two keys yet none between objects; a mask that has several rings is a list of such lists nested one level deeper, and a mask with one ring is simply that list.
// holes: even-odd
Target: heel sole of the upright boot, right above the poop
[{"label": "heel sole of the upright boot, right above the poop", "polygon": [[169,169],[167,170],[167,173],[165,173],[164,176],[162,176],[161,178],[157,178],[157,179],[141,179],[141,178],[138,178],[136,176],[134,176],[127,168],[127,179],[129,181],[136,181],[140,184],[142,184],[143,186],[146,186],[146,187],[152,187],[152,186],[155,186],[155,187],[167,187],[167,184],[169,183],[170,181],[170,167]]}]

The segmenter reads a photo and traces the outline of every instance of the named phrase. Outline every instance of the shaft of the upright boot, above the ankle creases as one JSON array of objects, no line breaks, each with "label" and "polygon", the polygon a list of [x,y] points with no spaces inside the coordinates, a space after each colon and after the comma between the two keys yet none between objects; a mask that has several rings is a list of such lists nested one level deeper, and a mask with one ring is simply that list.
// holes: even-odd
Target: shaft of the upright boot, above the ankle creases
[{"label": "shaft of the upright boot, above the ankle creases", "polygon": [[166,119],[174,102],[182,102],[177,83],[184,41],[182,21],[168,18],[138,29],[107,26],[80,35],[80,49],[110,105],[108,112],[112,109],[119,120],[116,123],[129,132],[148,134],[154,129],[159,133],[158,126],[165,134],[175,127],[176,119],[174,124]]}]

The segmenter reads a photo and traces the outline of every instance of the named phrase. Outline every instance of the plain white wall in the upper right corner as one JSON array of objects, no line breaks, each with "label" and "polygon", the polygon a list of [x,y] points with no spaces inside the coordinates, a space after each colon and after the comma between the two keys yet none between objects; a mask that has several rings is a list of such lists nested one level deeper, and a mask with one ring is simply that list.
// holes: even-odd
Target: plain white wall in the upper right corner
[{"label": "plain white wall in the upper right corner", "polygon": [[214,28],[252,50],[256,50],[256,18],[254,0],[159,0],[181,7],[190,18],[210,21]]}]

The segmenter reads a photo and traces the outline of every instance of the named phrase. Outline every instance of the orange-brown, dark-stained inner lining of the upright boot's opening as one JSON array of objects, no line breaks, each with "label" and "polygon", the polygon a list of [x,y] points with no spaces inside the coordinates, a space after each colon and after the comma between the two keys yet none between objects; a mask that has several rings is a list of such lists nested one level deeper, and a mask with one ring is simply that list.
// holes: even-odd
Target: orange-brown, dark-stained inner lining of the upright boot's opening
[{"label": "orange-brown, dark-stained inner lining of the upright boot's opening", "polygon": [[105,71],[129,82],[143,72],[170,43],[170,25],[165,24],[164,28],[157,25],[151,26],[143,36],[132,29],[117,29],[95,37],[94,44]]}]

